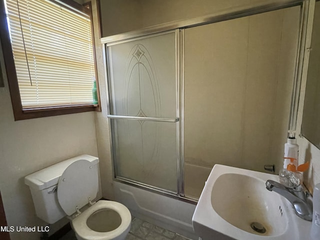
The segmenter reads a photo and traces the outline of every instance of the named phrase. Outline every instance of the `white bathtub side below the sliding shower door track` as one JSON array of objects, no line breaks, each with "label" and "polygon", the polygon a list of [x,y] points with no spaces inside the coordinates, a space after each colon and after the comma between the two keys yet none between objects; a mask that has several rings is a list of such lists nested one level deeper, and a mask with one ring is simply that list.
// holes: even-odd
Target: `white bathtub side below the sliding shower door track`
[{"label": "white bathtub side below the sliding shower door track", "polygon": [[129,208],[132,215],[181,234],[198,239],[192,227],[195,204],[113,181],[115,200]]}]

